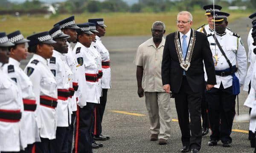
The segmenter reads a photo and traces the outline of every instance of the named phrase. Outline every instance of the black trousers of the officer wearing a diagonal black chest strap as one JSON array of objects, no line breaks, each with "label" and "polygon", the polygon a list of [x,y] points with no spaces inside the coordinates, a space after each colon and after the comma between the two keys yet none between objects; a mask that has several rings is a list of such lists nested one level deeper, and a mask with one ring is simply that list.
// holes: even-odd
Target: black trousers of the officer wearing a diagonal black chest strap
[{"label": "black trousers of the officer wearing a diagonal black chest strap", "polygon": [[[236,95],[232,94],[232,86],[224,89],[221,83],[220,88],[212,88],[206,91],[206,99],[208,101],[208,116],[212,129],[210,139],[232,142],[230,134],[236,114]],[[221,119],[221,122],[219,119]]]}]

